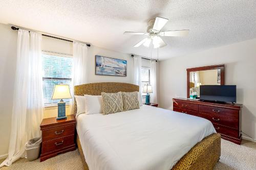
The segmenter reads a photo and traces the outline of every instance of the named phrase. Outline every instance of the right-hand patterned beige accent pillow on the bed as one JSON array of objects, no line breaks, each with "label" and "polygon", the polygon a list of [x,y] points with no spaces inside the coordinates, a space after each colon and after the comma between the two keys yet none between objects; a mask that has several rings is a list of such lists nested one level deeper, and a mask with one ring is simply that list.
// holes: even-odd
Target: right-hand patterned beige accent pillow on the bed
[{"label": "right-hand patterned beige accent pillow on the bed", "polygon": [[138,91],[122,92],[123,95],[123,111],[139,109]]}]

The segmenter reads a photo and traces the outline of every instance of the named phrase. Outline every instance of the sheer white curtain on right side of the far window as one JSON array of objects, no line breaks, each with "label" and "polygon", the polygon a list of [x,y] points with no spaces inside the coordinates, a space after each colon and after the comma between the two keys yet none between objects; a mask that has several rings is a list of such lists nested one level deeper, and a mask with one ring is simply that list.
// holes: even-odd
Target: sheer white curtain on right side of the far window
[{"label": "sheer white curtain on right side of the far window", "polygon": [[156,60],[151,61],[150,83],[153,91],[153,93],[151,94],[151,102],[157,103],[157,62]]}]

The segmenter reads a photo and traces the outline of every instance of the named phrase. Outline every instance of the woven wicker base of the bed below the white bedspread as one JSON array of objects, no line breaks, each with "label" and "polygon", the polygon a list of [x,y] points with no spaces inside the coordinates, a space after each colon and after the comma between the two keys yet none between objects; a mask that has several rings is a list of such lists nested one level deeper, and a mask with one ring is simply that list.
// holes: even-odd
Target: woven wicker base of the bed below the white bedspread
[{"label": "woven wicker base of the bed below the white bedspread", "polygon": [[[77,145],[81,155],[84,170],[89,167],[84,158],[81,143],[77,134]],[[198,142],[186,155],[184,155],[172,168],[172,170],[210,170],[220,159],[221,135],[214,133]]]}]

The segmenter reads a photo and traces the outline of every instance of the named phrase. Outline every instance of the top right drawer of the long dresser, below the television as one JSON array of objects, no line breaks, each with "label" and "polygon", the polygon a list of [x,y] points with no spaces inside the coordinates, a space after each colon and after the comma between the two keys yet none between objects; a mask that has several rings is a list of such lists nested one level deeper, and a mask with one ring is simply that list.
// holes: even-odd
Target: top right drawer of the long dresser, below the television
[{"label": "top right drawer of the long dresser, below the television", "polygon": [[239,111],[234,109],[226,109],[221,107],[212,107],[204,105],[199,105],[198,109],[200,113],[221,115],[232,119],[239,119]]}]

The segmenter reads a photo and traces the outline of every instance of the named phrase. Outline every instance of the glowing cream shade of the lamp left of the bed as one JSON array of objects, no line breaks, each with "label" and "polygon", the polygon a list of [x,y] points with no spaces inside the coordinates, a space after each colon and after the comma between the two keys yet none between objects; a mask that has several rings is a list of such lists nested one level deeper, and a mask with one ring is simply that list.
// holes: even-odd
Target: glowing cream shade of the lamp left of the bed
[{"label": "glowing cream shade of the lamp left of the bed", "polygon": [[52,99],[71,99],[69,85],[55,85]]}]

